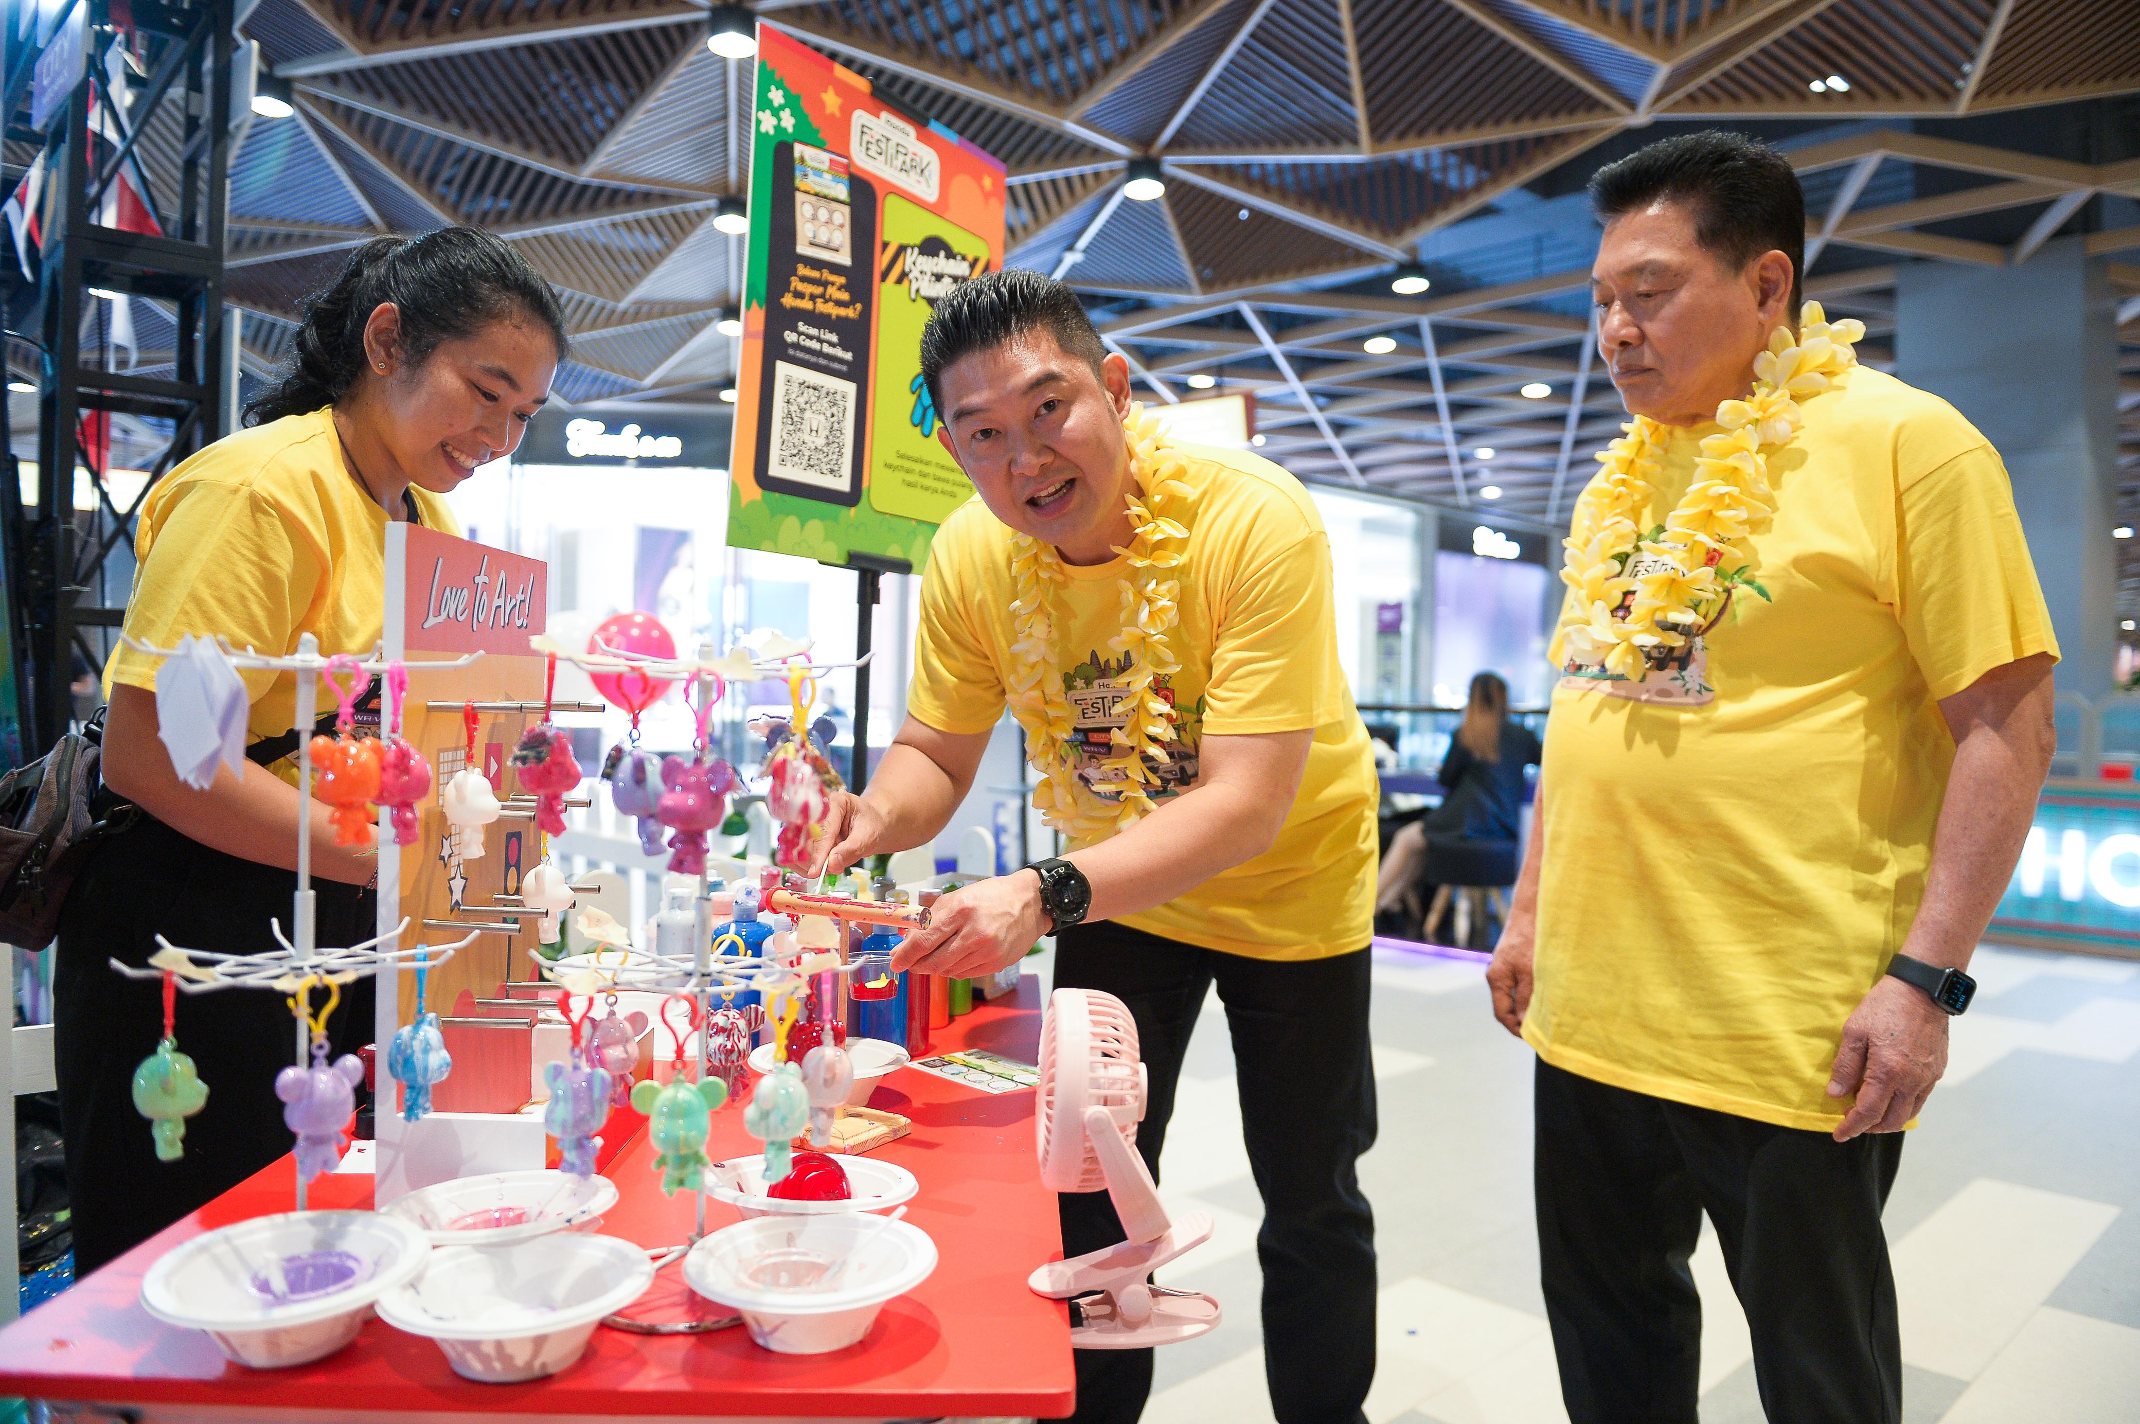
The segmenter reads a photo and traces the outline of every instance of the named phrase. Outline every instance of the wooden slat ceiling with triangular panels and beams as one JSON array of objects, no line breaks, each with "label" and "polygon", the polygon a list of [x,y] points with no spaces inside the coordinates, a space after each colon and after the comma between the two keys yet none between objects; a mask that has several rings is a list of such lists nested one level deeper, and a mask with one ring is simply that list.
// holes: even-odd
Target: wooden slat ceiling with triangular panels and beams
[{"label": "wooden slat ceiling with triangular panels and beams", "polygon": [[[1592,146],[1624,152],[1620,135],[1654,120],[1798,120],[1810,281],[1868,321],[1872,360],[1892,343],[1896,263],[2024,261],[2140,197],[2131,152],[2054,163],[1905,122],[2140,94],[2134,0],[755,9],[1002,156],[1012,263],[1085,289],[1151,396],[1213,375],[1258,394],[1265,452],[1305,478],[1457,505],[1494,484],[1496,510],[1541,522],[1564,518],[1620,418],[1584,373],[1594,229],[1562,197]],[[565,400],[706,403],[728,383],[708,328],[736,302],[740,244],[710,216],[747,188],[751,71],[706,51],[704,9],[261,0],[244,28],[300,109],[255,122],[233,167],[231,291],[257,313],[255,366],[349,246],[469,221],[565,293],[584,334]],[[2140,148],[2140,105],[2119,103],[2108,128]],[[1162,161],[1166,195],[1119,201],[1141,156]],[[1434,276],[1425,298],[1389,296],[1408,259]],[[2140,251],[2127,259],[2140,270]],[[2136,298],[2123,330],[2140,383]],[[1397,347],[1367,355],[1376,334]],[[1552,394],[1526,398],[1530,381]],[[2136,488],[2121,499],[2140,520],[2140,392],[2125,418]]]}]

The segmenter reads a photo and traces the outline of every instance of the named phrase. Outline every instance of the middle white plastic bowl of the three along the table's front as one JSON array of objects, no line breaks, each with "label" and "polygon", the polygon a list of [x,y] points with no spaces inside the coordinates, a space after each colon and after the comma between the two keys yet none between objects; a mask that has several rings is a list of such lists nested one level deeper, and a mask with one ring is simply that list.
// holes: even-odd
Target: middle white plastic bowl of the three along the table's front
[{"label": "middle white plastic bowl of the three along the table's front", "polygon": [[569,1368],[603,1315],[646,1293],[655,1266],[614,1236],[552,1231],[511,1246],[441,1246],[379,1319],[430,1336],[462,1379],[516,1383]]}]

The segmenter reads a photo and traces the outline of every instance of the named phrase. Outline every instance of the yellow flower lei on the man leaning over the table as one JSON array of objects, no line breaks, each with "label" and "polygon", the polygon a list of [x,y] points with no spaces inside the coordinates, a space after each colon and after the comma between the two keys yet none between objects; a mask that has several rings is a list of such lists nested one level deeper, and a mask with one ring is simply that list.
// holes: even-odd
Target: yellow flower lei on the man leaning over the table
[{"label": "yellow flower lei on the man leaning over the table", "polygon": [[[1181,668],[1168,647],[1168,634],[1181,617],[1181,587],[1162,574],[1181,565],[1188,550],[1188,518],[1194,490],[1181,482],[1188,465],[1168,445],[1158,418],[1143,405],[1132,405],[1124,420],[1124,441],[1130,448],[1130,475],[1138,497],[1128,501],[1134,535],[1128,548],[1115,548],[1130,565],[1121,580],[1121,634],[1109,649],[1130,653],[1124,709],[1128,719],[1113,730],[1117,756],[1100,764],[1119,771],[1121,799],[1106,801],[1085,790],[1076,777],[1076,754],[1070,747],[1074,711],[1064,694],[1061,662],[1055,653],[1057,615],[1051,591],[1068,580],[1061,555],[1027,533],[1010,537],[1010,713],[1025,728],[1027,756],[1040,773],[1034,788],[1034,809],[1049,827],[1079,846],[1106,839],[1128,829],[1153,809],[1151,767],[1166,762],[1164,741],[1173,730],[1171,709],[1151,692],[1151,679]],[[1149,762],[1147,762],[1149,758]]]}]

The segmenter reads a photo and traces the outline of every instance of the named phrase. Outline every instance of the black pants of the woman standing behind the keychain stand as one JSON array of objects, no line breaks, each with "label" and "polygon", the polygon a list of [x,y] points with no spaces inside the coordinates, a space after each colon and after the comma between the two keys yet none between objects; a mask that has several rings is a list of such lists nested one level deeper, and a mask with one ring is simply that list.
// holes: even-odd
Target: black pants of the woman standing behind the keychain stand
[{"label": "black pants of the woman standing behind the keychain stand", "polygon": [[[374,934],[377,895],[312,882],[321,944]],[[122,979],[107,959],[141,966],[160,931],[180,949],[250,955],[276,949],[270,916],[291,934],[297,876],[242,861],[143,816],[101,844],[66,895],[54,955],[54,1066],[75,1227],[75,1272],[88,1274],[291,1150],[274,1075],[291,1066],[297,1021],[280,994],[214,989],[178,996],[178,1047],[208,1084],[186,1120],[186,1156],[156,1158],[133,1105],[133,1071],[163,1036],[163,985]],[[323,996],[315,994],[315,1009]],[[372,1041],[372,981],[342,985],[327,1021],[334,1054]]]}]

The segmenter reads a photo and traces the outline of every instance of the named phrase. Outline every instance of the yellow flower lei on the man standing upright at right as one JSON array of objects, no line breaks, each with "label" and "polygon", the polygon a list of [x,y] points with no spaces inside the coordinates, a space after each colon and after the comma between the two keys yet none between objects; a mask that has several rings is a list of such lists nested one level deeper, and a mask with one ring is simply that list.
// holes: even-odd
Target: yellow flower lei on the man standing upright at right
[{"label": "yellow flower lei on the man standing upright at right", "polygon": [[[1798,396],[1832,388],[1858,362],[1851,347],[1864,334],[1862,321],[1828,321],[1819,302],[1806,302],[1795,340],[1778,325],[1753,362],[1753,394],[1716,407],[1723,433],[1703,437],[1695,482],[1648,537],[1635,520],[1650,503],[1669,426],[1646,415],[1620,426],[1624,435],[1599,454],[1605,469],[1575,503],[1562,544],[1560,578],[1577,595],[1560,621],[1569,653],[1639,681],[1648,649],[1682,647],[1733,589],[1751,585],[1768,597],[1753,580],[1753,540],[1776,514],[1768,460],[1798,439]],[[1629,578],[1637,548],[1665,567]],[[1629,591],[1635,600],[1626,617],[1616,617]]]}]

